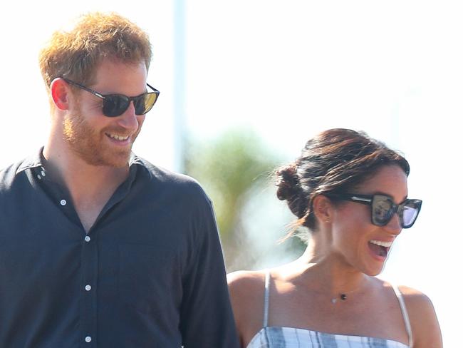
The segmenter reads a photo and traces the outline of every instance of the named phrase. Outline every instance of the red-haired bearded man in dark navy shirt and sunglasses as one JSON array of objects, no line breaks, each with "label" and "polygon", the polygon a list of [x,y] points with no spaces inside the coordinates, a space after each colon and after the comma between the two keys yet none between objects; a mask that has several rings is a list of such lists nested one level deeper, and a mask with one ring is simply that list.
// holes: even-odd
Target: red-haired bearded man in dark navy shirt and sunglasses
[{"label": "red-haired bearded man in dark navy shirt and sunglasses", "polygon": [[41,51],[48,141],[0,171],[0,347],[238,347],[209,199],[131,153],[150,58],[116,14]]}]

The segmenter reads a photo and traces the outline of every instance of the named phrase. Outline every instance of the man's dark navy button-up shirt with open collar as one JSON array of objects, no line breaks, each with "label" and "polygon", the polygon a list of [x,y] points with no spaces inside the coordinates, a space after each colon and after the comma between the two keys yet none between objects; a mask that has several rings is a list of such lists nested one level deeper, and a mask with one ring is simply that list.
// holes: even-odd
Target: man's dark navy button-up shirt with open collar
[{"label": "man's dark navy button-up shirt with open collar", "polygon": [[132,156],[85,233],[38,153],[0,170],[0,347],[239,347],[212,205]]}]

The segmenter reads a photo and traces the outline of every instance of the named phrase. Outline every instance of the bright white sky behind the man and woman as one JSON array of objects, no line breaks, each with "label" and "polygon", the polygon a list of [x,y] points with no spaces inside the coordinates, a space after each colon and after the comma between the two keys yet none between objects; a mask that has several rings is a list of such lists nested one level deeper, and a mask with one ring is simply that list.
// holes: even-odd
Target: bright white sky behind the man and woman
[{"label": "bright white sky behind the man and woman", "polygon": [[[2,9],[0,168],[43,144],[48,103],[37,55],[51,32],[89,10],[145,29],[161,91],[135,151],[175,169],[174,6],[170,1],[58,1]],[[27,9],[25,9],[27,7]],[[326,128],[367,131],[405,153],[420,218],[397,240],[382,277],[429,295],[445,347],[459,346],[463,113],[459,1],[186,1],[186,125],[199,138],[254,128],[292,160]]]}]

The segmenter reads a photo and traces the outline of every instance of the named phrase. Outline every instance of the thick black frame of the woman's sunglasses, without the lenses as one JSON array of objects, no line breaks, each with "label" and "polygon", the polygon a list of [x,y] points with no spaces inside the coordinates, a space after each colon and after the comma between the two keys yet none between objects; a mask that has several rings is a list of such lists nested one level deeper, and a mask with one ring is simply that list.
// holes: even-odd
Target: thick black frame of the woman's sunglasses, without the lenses
[{"label": "thick black frame of the woman's sunglasses, without the lenses", "polygon": [[[390,222],[390,220],[392,219],[392,216],[394,216],[394,213],[397,213],[397,215],[399,215],[400,226],[402,228],[410,228],[410,227],[413,226],[413,224],[417,220],[418,215],[420,214],[421,205],[422,205],[422,200],[415,200],[415,199],[406,199],[400,204],[395,204],[390,196],[388,196],[388,195],[380,195],[380,194],[376,194],[376,195],[356,195],[354,193],[333,193],[333,194],[326,195],[326,196],[328,198],[334,198],[334,199],[337,199],[337,200],[348,200],[348,201],[354,202],[354,203],[360,203],[360,204],[363,204],[363,205],[370,205],[370,207],[371,207],[371,210],[370,210],[371,223],[373,223],[373,225],[376,225],[376,226],[385,226],[385,225],[387,225]],[[374,209],[375,209],[375,202],[378,201],[378,198],[386,198],[389,201],[390,206],[391,206],[390,210],[388,210],[389,217],[384,222],[380,222],[377,219],[375,219]],[[403,211],[404,211],[405,207],[410,206],[410,205],[415,205],[414,208],[417,210],[417,213],[415,215],[415,218],[412,220],[412,222],[410,224],[408,224],[408,225],[405,225],[404,220],[403,220]]]}]

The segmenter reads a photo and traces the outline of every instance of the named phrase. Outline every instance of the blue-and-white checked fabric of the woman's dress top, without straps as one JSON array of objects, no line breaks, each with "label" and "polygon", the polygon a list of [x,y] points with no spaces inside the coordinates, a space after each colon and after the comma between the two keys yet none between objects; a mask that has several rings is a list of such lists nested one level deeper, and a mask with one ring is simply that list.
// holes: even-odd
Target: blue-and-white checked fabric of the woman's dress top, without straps
[{"label": "blue-and-white checked fabric of the woman's dress top, without straps", "polygon": [[407,348],[390,339],[326,334],[293,327],[264,327],[247,348]]}]

